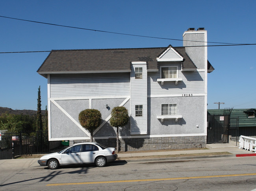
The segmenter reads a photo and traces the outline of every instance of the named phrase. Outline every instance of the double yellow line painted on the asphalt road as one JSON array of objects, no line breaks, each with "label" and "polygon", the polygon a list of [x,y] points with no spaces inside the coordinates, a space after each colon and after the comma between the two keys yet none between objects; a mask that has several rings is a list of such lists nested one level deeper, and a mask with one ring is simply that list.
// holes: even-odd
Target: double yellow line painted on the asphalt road
[{"label": "double yellow line painted on the asphalt road", "polygon": [[214,175],[214,176],[192,176],[192,177],[179,177],[179,178],[154,178],[154,179],[138,179],[138,180],[112,180],[112,181],[100,181],[100,182],[56,183],[56,184],[47,184],[46,186],[81,185],[81,184],[109,184],[109,183],[122,183],[122,182],[145,182],[145,181],[184,180],[184,179],[187,180],[187,179],[197,179],[197,178],[221,178],[221,177],[252,176],[252,175],[256,175],[256,173],[226,174],[226,175]]}]

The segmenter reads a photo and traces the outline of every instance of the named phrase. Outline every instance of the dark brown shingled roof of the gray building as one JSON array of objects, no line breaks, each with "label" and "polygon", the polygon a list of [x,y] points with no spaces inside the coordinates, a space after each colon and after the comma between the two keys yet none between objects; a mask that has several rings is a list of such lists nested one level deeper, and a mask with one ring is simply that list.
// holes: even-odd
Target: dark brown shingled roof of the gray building
[{"label": "dark brown shingled roof of the gray building", "polygon": [[[168,47],[90,50],[52,50],[37,72],[44,77],[51,73],[128,72],[131,62],[145,61],[149,70],[158,70],[156,58]],[[196,70],[185,47],[174,48],[183,58],[183,69]]]}]

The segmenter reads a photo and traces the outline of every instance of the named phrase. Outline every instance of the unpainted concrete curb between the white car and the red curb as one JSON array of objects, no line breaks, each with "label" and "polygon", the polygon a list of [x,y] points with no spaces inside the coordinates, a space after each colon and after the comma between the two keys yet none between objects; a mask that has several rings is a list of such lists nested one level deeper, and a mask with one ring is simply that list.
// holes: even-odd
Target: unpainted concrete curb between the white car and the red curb
[{"label": "unpainted concrete curb between the white car and the red curb", "polygon": [[[236,157],[236,154],[224,154],[224,155],[212,155],[212,156],[184,156],[184,157],[168,157],[168,158],[145,158],[145,159],[134,159],[134,160],[122,160],[119,158],[117,161],[130,162],[156,162],[156,161],[176,161],[176,160],[191,160],[201,158],[223,158],[223,157]],[[124,157],[125,158],[125,157]]]}]

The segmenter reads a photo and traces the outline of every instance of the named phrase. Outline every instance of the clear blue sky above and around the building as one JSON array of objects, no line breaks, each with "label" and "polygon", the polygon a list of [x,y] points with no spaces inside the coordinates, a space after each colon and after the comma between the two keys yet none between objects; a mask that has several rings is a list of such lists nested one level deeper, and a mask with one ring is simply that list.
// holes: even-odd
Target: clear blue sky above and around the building
[{"label": "clear blue sky above and around the building", "polygon": [[[0,1],[0,16],[117,33],[182,39],[188,28],[204,27],[208,41],[256,43],[256,1]],[[59,49],[182,46],[182,41],[150,39],[63,28],[0,17],[0,52]],[[212,45],[212,44],[208,44]],[[208,108],[256,108],[256,45],[208,47],[215,71],[208,74]],[[0,54],[0,107],[42,109],[47,79],[36,71],[48,53]]]}]

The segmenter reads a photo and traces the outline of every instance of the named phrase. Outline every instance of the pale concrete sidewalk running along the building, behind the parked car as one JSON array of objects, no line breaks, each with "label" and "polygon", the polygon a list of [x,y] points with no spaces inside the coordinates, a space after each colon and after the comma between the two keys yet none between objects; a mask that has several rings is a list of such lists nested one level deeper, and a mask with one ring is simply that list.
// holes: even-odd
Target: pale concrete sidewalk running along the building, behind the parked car
[{"label": "pale concrete sidewalk running along the building, behind the parked car", "polygon": [[[174,158],[169,157],[169,155],[179,155],[179,154],[197,154],[201,153],[200,158],[203,158],[203,153],[206,153],[206,157],[208,153],[215,152],[230,152],[230,157],[236,157],[237,154],[240,156],[255,156],[256,153],[245,151],[244,149],[238,149],[235,145],[230,143],[220,143],[220,144],[208,144],[206,145],[208,149],[202,150],[186,150],[186,151],[158,151],[158,152],[135,152],[135,153],[118,153],[118,160],[126,160],[127,162],[141,162],[141,161],[150,161],[154,156],[163,156],[165,160],[174,160]],[[151,159],[146,159],[147,156],[152,156]],[[227,155],[224,155],[227,156]],[[138,159],[139,157],[139,159]],[[145,157],[145,159],[143,159]],[[223,155],[218,155],[216,157],[223,157]],[[161,157],[160,157],[161,158]],[[178,157],[178,160],[187,157]],[[193,158],[197,158],[197,156],[193,156]],[[26,159],[9,159],[9,160],[0,160],[0,169],[23,169],[30,167],[40,167],[37,163],[39,158],[26,158]],[[176,158],[177,160],[177,158]]]}]

